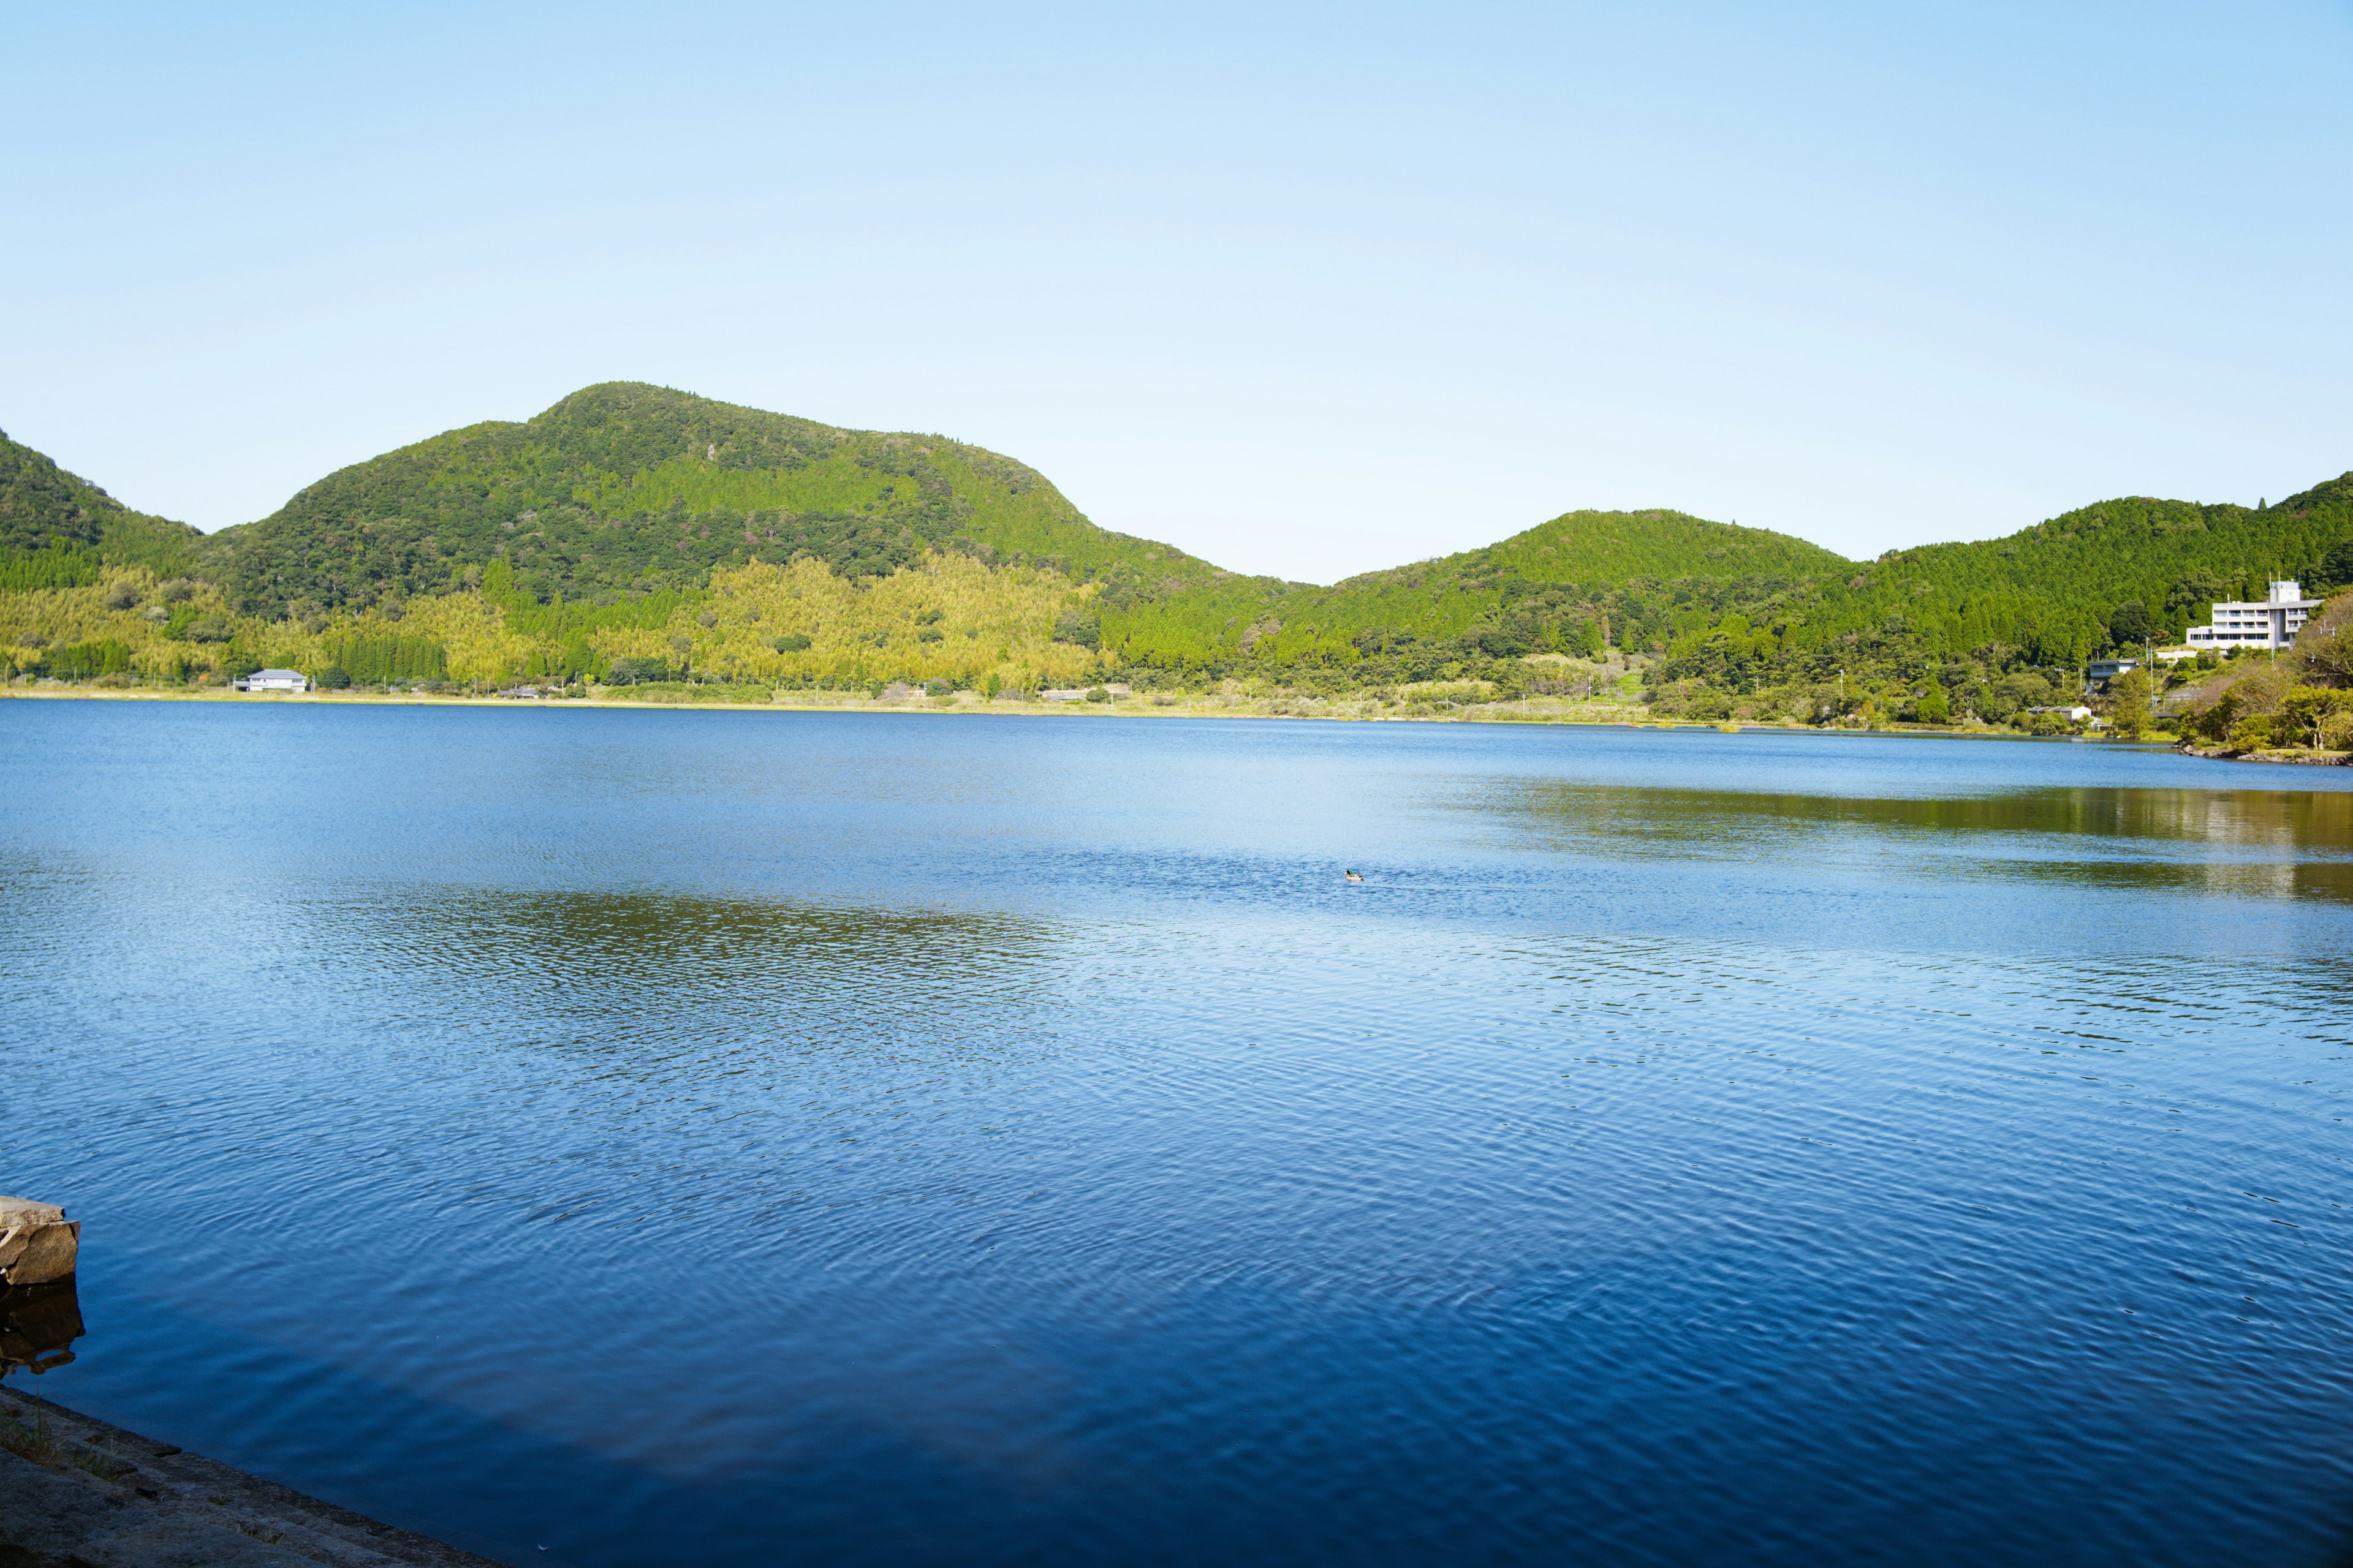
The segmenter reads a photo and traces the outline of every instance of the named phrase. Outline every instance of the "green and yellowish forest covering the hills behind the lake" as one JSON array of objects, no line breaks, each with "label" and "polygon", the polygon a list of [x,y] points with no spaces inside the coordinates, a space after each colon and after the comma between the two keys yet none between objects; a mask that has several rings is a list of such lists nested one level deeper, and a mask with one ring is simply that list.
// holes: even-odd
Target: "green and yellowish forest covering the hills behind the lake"
[{"label": "green and yellowish forest covering the hills behind the lake", "polygon": [[1640,670],[1687,717],[2000,719],[2273,576],[2353,583],[2353,475],[2275,505],[2120,498],[1849,562],[1673,510],[1567,512],[1315,588],[1096,529],[1035,470],[607,383],[205,536],[0,437],[0,661],[188,679],[755,682],[1346,693]]}]

